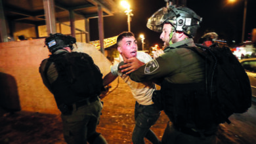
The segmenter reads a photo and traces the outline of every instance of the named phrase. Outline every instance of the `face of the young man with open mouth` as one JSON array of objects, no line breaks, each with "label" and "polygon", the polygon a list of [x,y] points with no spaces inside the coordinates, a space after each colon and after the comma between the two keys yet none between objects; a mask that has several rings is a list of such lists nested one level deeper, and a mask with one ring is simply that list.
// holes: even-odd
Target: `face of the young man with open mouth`
[{"label": "face of the young man with open mouth", "polygon": [[117,50],[123,56],[123,60],[137,56],[137,41],[135,37],[124,37],[120,42]]}]

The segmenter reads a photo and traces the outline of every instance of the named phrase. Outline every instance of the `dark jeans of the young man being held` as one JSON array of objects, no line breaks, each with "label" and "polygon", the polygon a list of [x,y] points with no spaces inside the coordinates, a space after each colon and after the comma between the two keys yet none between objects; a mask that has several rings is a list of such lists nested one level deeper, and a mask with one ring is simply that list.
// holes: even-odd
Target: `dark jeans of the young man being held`
[{"label": "dark jeans of the young man being held", "polygon": [[151,141],[153,144],[160,143],[158,137],[154,134],[150,127],[156,123],[156,120],[160,117],[160,111],[158,111],[154,104],[152,105],[140,105],[135,104],[135,128],[133,130],[133,144],[144,144],[144,137]]}]

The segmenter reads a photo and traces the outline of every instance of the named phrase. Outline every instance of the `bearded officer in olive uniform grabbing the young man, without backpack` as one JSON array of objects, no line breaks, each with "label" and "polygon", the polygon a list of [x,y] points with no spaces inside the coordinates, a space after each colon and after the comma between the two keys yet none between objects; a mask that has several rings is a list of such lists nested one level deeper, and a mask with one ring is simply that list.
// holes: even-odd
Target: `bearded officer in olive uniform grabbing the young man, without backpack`
[{"label": "bearded officer in olive uniform grabbing the young man, without backpack", "polygon": [[[134,66],[138,63],[136,58],[126,60],[127,64],[119,67],[133,81],[161,84],[161,90],[155,91],[152,99],[171,121],[165,128],[162,143],[216,143],[218,124],[195,111],[195,107],[201,106],[195,101],[203,101],[203,97],[194,97],[197,96],[196,92],[206,92],[203,89],[205,61],[187,48],[196,47],[192,38],[201,20],[187,7],[175,8],[170,5],[158,10],[148,20],[147,27],[161,32],[165,53],[141,67]],[[207,120],[198,124],[198,121],[194,121],[198,118]]]}]

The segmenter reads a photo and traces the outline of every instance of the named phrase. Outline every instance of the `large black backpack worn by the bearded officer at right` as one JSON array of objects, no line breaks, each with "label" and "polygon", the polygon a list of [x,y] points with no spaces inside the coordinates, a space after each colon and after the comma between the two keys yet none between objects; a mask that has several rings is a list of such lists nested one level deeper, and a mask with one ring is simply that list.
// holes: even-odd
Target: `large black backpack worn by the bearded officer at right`
[{"label": "large black backpack worn by the bearded officer at right", "polygon": [[196,46],[199,48],[188,48],[205,59],[205,85],[215,122],[229,124],[230,115],[245,113],[251,107],[251,84],[247,73],[230,48]]}]

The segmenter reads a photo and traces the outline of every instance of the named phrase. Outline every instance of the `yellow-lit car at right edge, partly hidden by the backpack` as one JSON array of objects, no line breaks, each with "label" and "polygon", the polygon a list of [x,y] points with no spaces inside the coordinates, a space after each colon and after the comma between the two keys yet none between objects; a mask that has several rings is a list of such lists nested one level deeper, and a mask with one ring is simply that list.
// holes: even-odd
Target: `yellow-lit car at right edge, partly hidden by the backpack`
[{"label": "yellow-lit car at right edge, partly hidden by the backpack", "polygon": [[244,67],[251,82],[251,92],[253,99],[256,99],[256,58],[243,59],[240,60],[240,63]]}]

